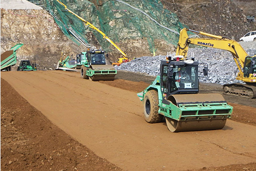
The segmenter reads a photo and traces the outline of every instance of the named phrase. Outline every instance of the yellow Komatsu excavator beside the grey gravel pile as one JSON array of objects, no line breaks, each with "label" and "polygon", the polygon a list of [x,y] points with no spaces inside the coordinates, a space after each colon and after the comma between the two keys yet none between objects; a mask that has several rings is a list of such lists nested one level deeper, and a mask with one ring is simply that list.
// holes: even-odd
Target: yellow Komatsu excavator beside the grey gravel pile
[{"label": "yellow Komatsu excavator beside the grey gravel pile", "polygon": [[[187,31],[192,31],[193,33],[210,38],[189,37]],[[256,55],[249,56],[238,42],[228,37],[212,35],[187,28],[180,31],[176,55],[187,56],[188,45],[190,44],[228,50],[233,55],[236,66],[239,69],[236,79],[246,84],[225,84],[223,85],[225,93],[246,98],[256,98]]]}]

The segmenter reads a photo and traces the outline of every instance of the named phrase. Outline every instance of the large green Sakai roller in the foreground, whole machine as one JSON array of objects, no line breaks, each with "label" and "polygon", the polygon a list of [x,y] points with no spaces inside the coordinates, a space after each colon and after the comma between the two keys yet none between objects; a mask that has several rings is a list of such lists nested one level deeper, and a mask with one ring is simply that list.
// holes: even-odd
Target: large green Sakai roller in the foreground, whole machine
[{"label": "large green Sakai roller in the foreground, whole machine", "polygon": [[221,94],[198,94],[201,70],[207,75],[208,66],[185,60],[161,61],[160,75],[138,93],[145,120],[165,120],[172,132],[222,129],[233,107]]}]

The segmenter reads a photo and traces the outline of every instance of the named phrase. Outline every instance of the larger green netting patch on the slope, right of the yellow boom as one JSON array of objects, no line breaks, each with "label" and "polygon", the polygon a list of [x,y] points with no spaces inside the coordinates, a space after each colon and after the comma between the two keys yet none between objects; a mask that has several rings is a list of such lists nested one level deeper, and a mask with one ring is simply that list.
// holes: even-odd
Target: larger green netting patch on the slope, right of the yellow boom
[{"label": "larger green netting patch on the slope, right of the yellow boom", "polygon": [[105,33],[115,42],[141,37],[148,40],[151,52],[157,39],[176,45],[179,39],[177,33],[183,28],[178,17],[163,9],[157,0],[129,1],[128,4],[107,1],[99,8],[99,17],[105,23],[102,24]]}]

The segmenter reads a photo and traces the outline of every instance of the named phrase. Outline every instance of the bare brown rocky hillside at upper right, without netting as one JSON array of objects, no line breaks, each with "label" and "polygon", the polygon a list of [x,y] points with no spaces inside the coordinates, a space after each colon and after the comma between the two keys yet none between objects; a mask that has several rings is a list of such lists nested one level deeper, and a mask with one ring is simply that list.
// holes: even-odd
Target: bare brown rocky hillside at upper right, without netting
[{"label": "bare brown rocky hillside at upper right, without netting", "polygon": [[248,22],[247,15],[256,16],[254,0],[161,0],[164,8],[175,12],[190,29],[227,36],[239,41],[248,31],[256,30],[256,22]]}]

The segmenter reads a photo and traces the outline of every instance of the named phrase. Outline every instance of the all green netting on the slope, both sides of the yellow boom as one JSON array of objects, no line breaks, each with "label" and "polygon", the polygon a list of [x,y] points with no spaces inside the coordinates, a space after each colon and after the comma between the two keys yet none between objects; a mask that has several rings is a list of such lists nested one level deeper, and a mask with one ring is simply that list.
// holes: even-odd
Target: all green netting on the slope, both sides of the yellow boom
[{"label": "all green netting on the slope, both sides of the yellow boom", "polygon": [[[66,11],[56,0],[49,1],[51,9],[59,18],[60,22],[57,24],[62,25],[61,23],[63,23],[65,29],[72,27],[83,37],[92,31],[80,19]],[[68,9],[103,31],[113,42],[122,43],[129,39],[145,39],[148,40],[151,52],[155,49],[154,40],[160,39],[176,45],[179,39],[177,33],[184,28],[178,17],[164,9],[159,0],[97,1],[97,8],[89,1],[63,0],[61,2]],[[63,26],[61,27],[63,28]],[[102,39],[102,35],[97,31],[94,30],[93,34],[103,49],[106,50],[112,46]]]}]

